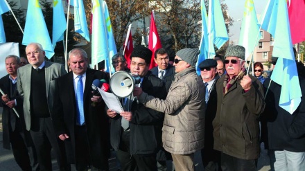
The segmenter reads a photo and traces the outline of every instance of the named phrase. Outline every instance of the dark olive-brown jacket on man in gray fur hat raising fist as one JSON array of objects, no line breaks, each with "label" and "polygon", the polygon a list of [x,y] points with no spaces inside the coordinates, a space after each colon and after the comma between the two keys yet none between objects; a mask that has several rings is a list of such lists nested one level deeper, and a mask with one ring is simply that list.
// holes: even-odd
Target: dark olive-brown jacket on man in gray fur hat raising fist
[{"label": "dark olive-brown jacket on man in gray fur hat raising fist", "polygon": [[263,112],[263,85],[250,75],[252,87],[247,93],[241,81],[235,82],[223,96],[225,76],[216,83],[217,112],[213,121],[214,149],[238,159],[259,158],[259,114]]}]

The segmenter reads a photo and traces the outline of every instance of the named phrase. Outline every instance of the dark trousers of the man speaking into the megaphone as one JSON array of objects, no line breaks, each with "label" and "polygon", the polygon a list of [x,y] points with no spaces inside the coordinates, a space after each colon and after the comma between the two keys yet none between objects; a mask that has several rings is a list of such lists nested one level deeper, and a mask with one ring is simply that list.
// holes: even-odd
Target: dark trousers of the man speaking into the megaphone
[{"label": "dark trousers of the man speaking into the megaphone", "polygon": [[121,169],[123,171],[157,171],[156,154],[130,155],[129,139],[130,132],[122,130],[120,147],[116,151],[116,158],[121,163]]}]

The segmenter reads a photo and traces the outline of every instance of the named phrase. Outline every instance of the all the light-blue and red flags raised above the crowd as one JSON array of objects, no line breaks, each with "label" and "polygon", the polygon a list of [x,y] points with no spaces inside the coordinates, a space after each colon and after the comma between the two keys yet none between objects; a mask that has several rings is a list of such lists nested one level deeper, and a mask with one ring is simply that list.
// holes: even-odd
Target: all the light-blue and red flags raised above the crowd
[{"label": "all the light-blue and red flags raised above the crowd", "polygon": [[[67,1],[74,8],[74,30],[90,42],[85,8],[82,0]],[[200,55],[198,64],[207,58],[213,58],[215,48],[221,48],[229,39],[225,19],[219,0],[209,0],[208,12],[201,1],[202,35],[200,39]],[[305,27],[302,21],[305,19],[304,0],[269,0],[260,21],[256,17],[253,0],[245,0],[241,35],[238,44],[246,49],[246,60],[252,57],[255,46],[261,37],[260,30],[267,30],[274,38],[273,56],[279,57],[271,79],[281,84],[280,106],[290,114],[297,109],[301,100],[301,89],[297,76],[293,44],[305,41]],[[1,15],[8,12],[10,7],[6,0],[0,0],[0,43],[6,42]],[[46,51],[49,59],[54,55],[56,42],[64,40],[64,31],[67,29],[67,19],[61,0],[53,1],[53,35],[52,41],[46,28],[39,1],[28,0],[26,25],[22,44],[39,42]],[[156,66],[154,53],[162,47],[155,23],[154,11],[150,18],[148,48],[153,51],[150,69]],[[103,0],[92,0],[92,67],[105,60],[105,70],[111,69],[111,57],[117,53],[114,41],[113,29],[107,3]],[[130,66],[130,54],[133,50],[131,24],[128,27],[126,39],[123,44],[128,67]],[[198,74],[200,70],[198,69]]]}]

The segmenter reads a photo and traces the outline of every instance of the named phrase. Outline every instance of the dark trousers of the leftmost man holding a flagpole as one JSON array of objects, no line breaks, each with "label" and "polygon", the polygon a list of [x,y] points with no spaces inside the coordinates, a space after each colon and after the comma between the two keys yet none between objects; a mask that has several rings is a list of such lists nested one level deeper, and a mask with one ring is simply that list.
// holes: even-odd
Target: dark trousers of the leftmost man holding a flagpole
[{"label": "dark trousers of the leftmost man holding a flagpole", "polygon": [[35,147],[27,147],[24,132],[10,129],[12,154],[21,170],[39,170]]}]

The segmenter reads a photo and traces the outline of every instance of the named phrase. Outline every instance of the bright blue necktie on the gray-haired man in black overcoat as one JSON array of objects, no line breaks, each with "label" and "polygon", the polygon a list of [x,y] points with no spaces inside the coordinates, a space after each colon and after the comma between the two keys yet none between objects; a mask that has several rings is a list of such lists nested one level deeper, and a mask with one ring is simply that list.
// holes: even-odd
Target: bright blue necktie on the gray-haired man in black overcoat
[{"label": "bright blue necktie on the gray-haired man in black overcoat", "polygon": [[85,123],[84,118],[84,92],[82,86],[82,75],[78,75],[78,87],[76,89],[76,102],[77,102],[77,122],[79,125]]}]

